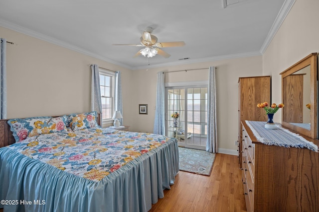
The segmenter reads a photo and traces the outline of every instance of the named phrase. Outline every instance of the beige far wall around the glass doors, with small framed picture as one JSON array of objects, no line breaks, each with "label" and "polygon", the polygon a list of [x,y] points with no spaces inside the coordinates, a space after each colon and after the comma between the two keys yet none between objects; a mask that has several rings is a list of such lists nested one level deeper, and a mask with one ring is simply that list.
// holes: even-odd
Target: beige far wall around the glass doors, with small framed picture
[{"label": "beige far wall around the glass doors, with small framed picture", "polygon": [[[217,126],[218,147],[223,152],[236,153],[238,140],[238,77],[262,75],[262,56],[249,58],[229,59],[198,64],[180,65],[174,67],[156,68],[134,71],[133,81],[135,83],[133,105],[132,129],[134,131],[153,132],[157,72],[177,71],[189,69],[202,69],[209,66],[217,67]],[[180,71],[165,74],[165,82],[208,80],[208,70]],[[148,104],[149,114],[139,115],[138,105]]]}]

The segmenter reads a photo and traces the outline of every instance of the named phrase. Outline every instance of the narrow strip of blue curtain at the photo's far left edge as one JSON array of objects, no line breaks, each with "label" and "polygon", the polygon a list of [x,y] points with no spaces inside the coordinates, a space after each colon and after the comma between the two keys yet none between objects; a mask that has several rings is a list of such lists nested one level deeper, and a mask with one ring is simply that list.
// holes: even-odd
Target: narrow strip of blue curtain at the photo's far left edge
[{"label": "narrow strip of blue curtain at the photo's far left edge", "polygon": [[6,39],[0,40],[0,119],[6,119]]}]

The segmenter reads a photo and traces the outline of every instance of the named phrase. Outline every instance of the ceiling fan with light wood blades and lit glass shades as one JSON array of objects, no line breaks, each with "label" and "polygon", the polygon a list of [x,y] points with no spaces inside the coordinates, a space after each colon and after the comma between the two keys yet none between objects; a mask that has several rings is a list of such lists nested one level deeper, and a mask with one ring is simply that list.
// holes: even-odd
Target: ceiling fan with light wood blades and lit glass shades
[{"label": "ceiling fan with light wood blades and lit glass shades", "polygon": [[163,56],[164,58],[170,57],[170,55],[161,50],[160,48],[164,47],[178,47],[178,46],[184,46],[184,41],[176,41],[176,42],[160,42],[158,43],[158,38],[155,35],[152,35],[154,28],[147,27],[145,31],[142,33],[142,36],[140,38],[141,44],[112,44],[114,46],[141,46],[145,47],[144,49],[141,49],[138,51],[134,58],[143,55],[144,57],[152,58],[156,54],[159,54]]}]

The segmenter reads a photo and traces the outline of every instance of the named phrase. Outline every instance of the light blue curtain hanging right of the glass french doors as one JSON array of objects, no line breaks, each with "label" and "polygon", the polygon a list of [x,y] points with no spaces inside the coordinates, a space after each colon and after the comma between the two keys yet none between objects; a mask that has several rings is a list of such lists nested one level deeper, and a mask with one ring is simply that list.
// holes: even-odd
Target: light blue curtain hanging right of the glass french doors
[{"label": "light blue curtain hanging right of the glass french doors", "polygon": [[217,152],[216,69],[209,67],[206,151]]}]

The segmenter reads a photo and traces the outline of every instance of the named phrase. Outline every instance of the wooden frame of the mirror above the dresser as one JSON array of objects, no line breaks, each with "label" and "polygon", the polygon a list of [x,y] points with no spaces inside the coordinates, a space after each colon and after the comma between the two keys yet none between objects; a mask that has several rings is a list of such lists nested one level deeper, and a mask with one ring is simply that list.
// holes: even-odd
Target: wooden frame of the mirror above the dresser
[{"label": "wooden frame of the mirror above the dresser", "polygon": [[[315,110],[311,110],[311,123],[310,123],[310,130],[307,130],[306,128],[302,128],[299,126],[292,125],[288,122],[285,122],[284,120],[284,110],[288,110],[289,105],[288,103],[283,102],[285,104],[285,107],[283,107],[282,112],[282,126],[285,128],[288,128],[290,130],[293,130],[299,134],[302,134],[304,136],[310,137],[312,139],[318,139],[318,126],[317,126],[317,117],[318,117],[318,108],[317,108],[317,92],[318,92],[318,86],[317,86],[317,77],[318,77],[318,70],[317,70],[317,53],[312,53],[296,63],[295,65],[291,66],[287,70],[281,72],[282,75],[282,101],[285,101],[285,87],[284,87],[284,78],[307,67],[310,66],[310,104],[311,108],[314,108]],[[293,85],[292,85],[293,86]]]}]

